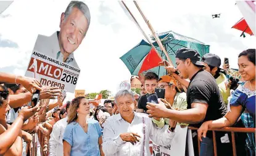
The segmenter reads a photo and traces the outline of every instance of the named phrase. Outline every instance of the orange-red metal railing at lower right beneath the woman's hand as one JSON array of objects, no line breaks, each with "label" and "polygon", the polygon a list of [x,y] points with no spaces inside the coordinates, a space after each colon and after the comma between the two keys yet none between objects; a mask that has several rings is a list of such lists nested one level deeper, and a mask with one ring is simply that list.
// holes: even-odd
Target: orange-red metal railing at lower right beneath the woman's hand
[{"label": "orange-red metal railing at lower right beneath the woman's hand", "polygon": [[[199,128],[195,127],[188,127],[191,130],[198,130]],[[236,141],[234,138],[234,133],[235,132],[241,132],[241,133],[254,133],[255,134],[255,128],[236,128],[236,127],[225,127],[225,128],[209,128],[209,131],[212,131],[213,135],[213,152],[214,156],[217,156],[217,144],[216,144],[216,138],[215,138],[215,131],[228,131],[231,132],[231,137],[232,137],[232,149],[233,149],[233,155],[236,156]],[[198,149],[199,149],[199,154],[200,154],[200,140],[197,139],[198,141]]]}]

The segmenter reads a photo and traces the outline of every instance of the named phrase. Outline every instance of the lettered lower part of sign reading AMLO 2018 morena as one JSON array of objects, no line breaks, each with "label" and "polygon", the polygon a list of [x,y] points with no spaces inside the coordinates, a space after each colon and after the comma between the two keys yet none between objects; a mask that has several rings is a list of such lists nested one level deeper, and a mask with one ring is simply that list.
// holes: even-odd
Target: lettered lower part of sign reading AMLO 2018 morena
[{"label": "lettered lower part of sign reading AMLO 2018 morena", "polygon": [[36,79],[42,85],[59,87],[67,92],[74,93],[80,74],[78,67],[70,66],[55,60],[41,52],[33,50],[25,76],[34,77],[34,59],[36,59]]}]

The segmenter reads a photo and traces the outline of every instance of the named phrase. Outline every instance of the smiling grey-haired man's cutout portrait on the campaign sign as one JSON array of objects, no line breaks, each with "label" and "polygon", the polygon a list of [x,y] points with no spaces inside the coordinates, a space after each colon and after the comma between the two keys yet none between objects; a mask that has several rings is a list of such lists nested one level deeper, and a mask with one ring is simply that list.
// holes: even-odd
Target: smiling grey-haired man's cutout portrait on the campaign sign
[{"label": "smiling grey-haired man's cutout portrait on the campaign sign", "polygon": [[60,31],[49,37],[38,35],[34,50],[77,67],[73,52],[85,38],[90,21],[88,6],[81,1],[71,1],[61,14]]}]

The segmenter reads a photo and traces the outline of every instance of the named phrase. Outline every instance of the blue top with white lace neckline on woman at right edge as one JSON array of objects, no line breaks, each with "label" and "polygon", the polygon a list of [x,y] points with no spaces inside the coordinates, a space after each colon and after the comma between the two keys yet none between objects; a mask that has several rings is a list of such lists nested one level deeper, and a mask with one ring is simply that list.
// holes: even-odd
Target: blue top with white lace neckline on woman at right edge
[{"label": "blue top with white lace neckline on woman at right edge", "polygon": [[255,91],[249,90],[244,85],[239,85],[231,96],[230,105],[241,105],[250,114],[255,116]]}]

